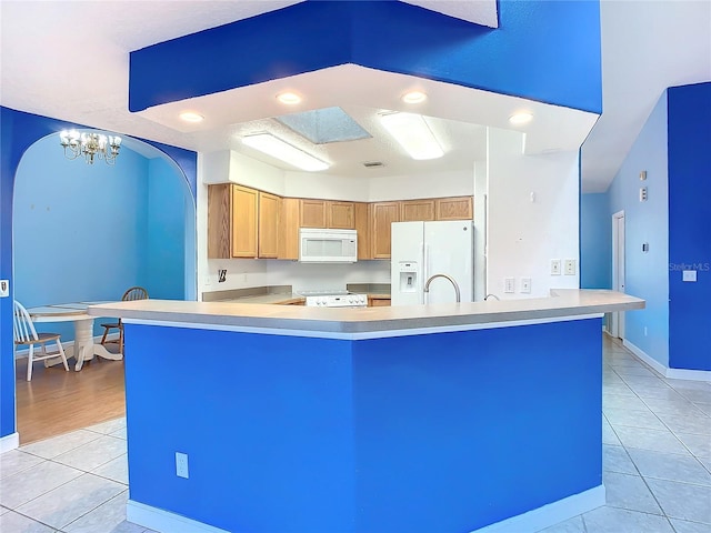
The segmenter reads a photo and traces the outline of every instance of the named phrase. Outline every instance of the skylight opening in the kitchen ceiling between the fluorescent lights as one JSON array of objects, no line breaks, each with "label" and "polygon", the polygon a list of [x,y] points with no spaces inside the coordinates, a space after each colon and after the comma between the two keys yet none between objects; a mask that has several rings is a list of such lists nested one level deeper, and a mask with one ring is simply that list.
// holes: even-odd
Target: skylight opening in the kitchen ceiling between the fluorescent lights
[{"label": "skylight opening in the kitchen ceiling between the fluorescent lights", "polygon": [[276,120],[306,137],[314,144],[358,141],[372,135],[341,108],[324,108],[301,113],[282,114]]}]

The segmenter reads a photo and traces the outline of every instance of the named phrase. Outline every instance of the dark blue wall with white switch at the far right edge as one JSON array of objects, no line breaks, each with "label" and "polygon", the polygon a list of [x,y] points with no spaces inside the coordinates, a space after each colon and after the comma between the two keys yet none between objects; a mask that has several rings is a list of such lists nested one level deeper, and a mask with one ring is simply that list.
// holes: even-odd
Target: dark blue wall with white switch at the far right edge
[{"label": "dark blue wall with white switch at the far right edge", "polygon": [[668,99],[669,366],[711,370],[711,82],[672,87]]}]

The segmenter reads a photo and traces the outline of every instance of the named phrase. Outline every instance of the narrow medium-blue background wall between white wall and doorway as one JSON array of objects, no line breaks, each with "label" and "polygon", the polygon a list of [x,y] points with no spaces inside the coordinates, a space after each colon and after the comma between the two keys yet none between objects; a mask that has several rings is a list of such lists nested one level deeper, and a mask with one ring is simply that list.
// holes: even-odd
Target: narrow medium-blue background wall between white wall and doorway
[{"label": "narrow medium-blue background wall between white wall and doorway", "polygon": [[604,194],[580,198],[580,288],[612,288],[612,219]]}]

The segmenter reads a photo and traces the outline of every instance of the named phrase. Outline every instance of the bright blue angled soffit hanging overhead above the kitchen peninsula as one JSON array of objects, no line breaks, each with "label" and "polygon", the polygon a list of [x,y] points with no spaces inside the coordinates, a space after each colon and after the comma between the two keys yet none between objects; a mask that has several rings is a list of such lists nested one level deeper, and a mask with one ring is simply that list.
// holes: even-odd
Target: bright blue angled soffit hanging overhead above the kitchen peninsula
[{"label": "bright blue angled soffit hanging overhead above the kitchen peninsula", "polygon": [[356,63],[600,113],[599,1],[498,7],[491,29],[403,2],[298,3],[131,52],[129,109]]}]

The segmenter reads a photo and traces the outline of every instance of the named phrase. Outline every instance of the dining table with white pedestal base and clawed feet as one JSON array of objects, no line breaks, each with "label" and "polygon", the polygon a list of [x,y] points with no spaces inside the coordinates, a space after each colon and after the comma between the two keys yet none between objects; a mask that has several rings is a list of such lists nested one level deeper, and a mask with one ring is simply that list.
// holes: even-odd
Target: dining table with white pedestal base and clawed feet
[{"label": "dining table with white pedestal base and clawed feet", "polygon": [[[32,322],[73,322],[74,323],[74,345],[73,349],[66,349],[67,358],[74,355],[77,364],[74,370],[79,372],[87,361],[91,361],[94,356],[111,361],[120,361],[123,359],[121,352],[110,352],[101,343],[94,343],[93,340],[93,321],[94,316],[87,311],[89,305],[102,302],[73,302],[58,303],[51,305],[40,305],[29,308],[27,311]],[[53,366],[61,363],[61,358],[48,359],[44,361],[46,366]]]}]

